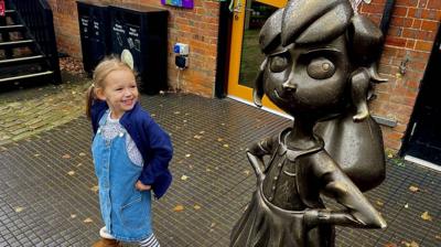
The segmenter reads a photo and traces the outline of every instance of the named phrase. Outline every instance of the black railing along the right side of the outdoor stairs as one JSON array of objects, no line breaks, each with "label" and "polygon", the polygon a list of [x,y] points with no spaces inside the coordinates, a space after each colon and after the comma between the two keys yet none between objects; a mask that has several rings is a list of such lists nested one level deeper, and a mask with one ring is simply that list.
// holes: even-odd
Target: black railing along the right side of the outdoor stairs
[{"label": "black railing along the right side of the outdoor stairs", "polygon": [[54,73],[54,82],[61,83],[58,52],[56,49],[52,9],[46,0],[7,0],[15,9],[18,18],[26,25],[30,39],[45,55],[49,68]]}]

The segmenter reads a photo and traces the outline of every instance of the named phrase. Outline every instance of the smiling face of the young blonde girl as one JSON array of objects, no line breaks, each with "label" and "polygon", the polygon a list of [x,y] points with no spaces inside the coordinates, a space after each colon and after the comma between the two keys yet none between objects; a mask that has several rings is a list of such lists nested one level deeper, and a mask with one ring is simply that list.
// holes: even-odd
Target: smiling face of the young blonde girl
[{"label": "smiling face of the young blonde girl", "polygon": [[111,118],[120,118],[126,111],[133,108],[139,93],[131,71],[118,69],[110,72],[104,83],[104,88],[97,88],[97,97],[107,101],[111,110]]}]

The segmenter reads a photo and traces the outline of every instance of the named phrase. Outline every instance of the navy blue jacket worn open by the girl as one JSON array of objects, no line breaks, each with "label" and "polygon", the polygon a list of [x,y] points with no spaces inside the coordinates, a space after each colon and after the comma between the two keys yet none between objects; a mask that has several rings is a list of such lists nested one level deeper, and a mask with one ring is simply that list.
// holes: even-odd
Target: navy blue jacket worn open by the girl
[{"label": "navy blue jacket worn open by the girl", "polygon": [[[94,101],[90,108],[94,135],[98,130],[99,119],[107,109],[106,101]],[[133,109],[126,111],[119,122],[133,139],[144,161],[139,180],[143,184],[151,185],[154,195],[160,198],[172,183],[169,162],[173,155],[173,147],[169,135],[142,109],[139,103]]]}]

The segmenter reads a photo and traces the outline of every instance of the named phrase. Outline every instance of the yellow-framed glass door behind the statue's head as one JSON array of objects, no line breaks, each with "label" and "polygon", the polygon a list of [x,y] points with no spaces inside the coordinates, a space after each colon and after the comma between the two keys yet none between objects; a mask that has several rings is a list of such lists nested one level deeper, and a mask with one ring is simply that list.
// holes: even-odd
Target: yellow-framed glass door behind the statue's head
[{"label": "yellow-framed glass door behind the statue's head", "polygon": [[[259,32],[265,21],[287,0],[235,0],[228,74],[228,95],[252,103],[254,79],[265,55]],[[263,106],[277,109],[266,97]]]}]

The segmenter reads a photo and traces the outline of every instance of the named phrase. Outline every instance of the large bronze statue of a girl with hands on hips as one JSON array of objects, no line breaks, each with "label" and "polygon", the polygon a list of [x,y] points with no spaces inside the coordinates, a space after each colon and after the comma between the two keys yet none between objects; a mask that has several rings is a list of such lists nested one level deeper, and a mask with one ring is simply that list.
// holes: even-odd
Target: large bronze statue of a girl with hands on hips
[{"label": "large bronze statue of a girl with hands on hips", "polygon": [[[384,82],[375,66],[381,39],[348,0],[291,0],[267,20],[255,104],[267,95],[294,121],[247,150],[257,191],[232,247],[326,247],[333,225],[386,227],[361,192],[385,178],[381,133],[366,103],[372,83]],[[326,208],[321,194],[344,210]]]}]

